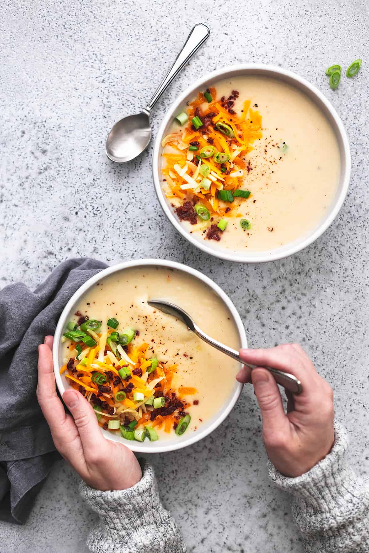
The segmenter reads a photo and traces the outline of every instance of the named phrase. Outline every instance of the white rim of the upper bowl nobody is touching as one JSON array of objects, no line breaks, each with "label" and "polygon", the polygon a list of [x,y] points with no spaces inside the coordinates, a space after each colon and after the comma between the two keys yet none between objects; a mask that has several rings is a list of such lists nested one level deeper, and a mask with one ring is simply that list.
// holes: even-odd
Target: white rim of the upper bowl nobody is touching
[{"label": "white rim of the upper bowl nobody is touching", "polygon": [[[336,197],[334,203],[331,205],[330,214],[328,217],[325,218],[325,220],[322,220],[321,223],[319,223],[318,227],[315,229],[313,233],[310,234],[310,236],[302,239],[297,244],[292,242],[291,246],[288,247],[288,244],[286,244],[285,251],[277,252],[274,254],[268,253],[268,251],[265,252],[265,255],[239,255],[237,252],[231,252],[227,250],[217,250],[215,248],[211,248],[207,246],[207,244],[201,241],[196,240],[191,236],[191,234],[186,231],[186,229],[180,224],[179,220],[175,217],[173,211],[171,211],[168,202],[163,194],[162,186],[160,185],[160,170],[159,170],[159,159],[160,159],[160,148],[163,134],[165,131],[165,127],[167,127],[167,124],[169,123],[169,120],[171,117],[173,117],[173,111],[176,107],[178,107],[187,96],[191,94],[191,92],[194,92],[197,88],[199,88],[201,85],[204,85],[207,81],[213,80],[216,78],[221,79],[222,76],[225,74],[232,72],[232,71],[247,71],[248,73],[252,73],[252,71],[257,72],[265,72],[264,76],[270,76],[278,79],[278,75],[283,75],[285,77],[288,77],[290,80],[295,82],[295,86],[298,88],[298,90],[302,90],[303,87],[308,88],[310,93],[312,93],[311,100],[313,100],[315,103],[316,98],[324,104],[325,108],[328,110],[330,116],[334,119],[334,122],[337,127],[337,132],[334,129],[335,135],[337,140],[340,138],[342,140],[342,149],[343,154],[340,151],[341,155],[341,170],[342,167],[344,168],[344,177],[342,179],[342,189],[339,193],[339,195]],[[298,85],[303,85],[302,87],[299,87]],[[305,92],[306,93],[306,92]],[[315,96],[315,98],[313,98]],[[318,105],[318,107],[320,107]],[[331,124],[331,123],[330,123]],[[340,148],[341,150],[341,148]],[[199,248],[203,252],[206,252],[210,255],[214,255],[214,257],[225,259],[227,261],[233,261],[237,263],[267,263],[269,261],[275,261],[277,259],[283,259],[285,257],[289,257],[289,255],[293,255],[294,253],[302,251],[304,248],[310,246],[311,243],[313,243],[317,238],[323,234],[326,229],[331,225],[331,223],[336,218],[337,214],[339,213],[342,204],[344,203],[345,197],[347,195],[347,191],[349,190],[349,184],[350,184],[350,175],[351,175],[351,153],[350,153],[350,144],[349,139],[347,138],[347,133],[345,131],[344,124],[341,121],[341,118],[337,114],[335,108],[332,106],[328,98],[324,96],[320,90],[312,85],[309,81],[304,79],[304,77],[301,77],[297,73],[294,73],[292,71],[289,71],[287,69],[283,69],[282,67],[277,67],[274,65],[267,65],[267,64],[237,64],[237,65],[228,65],[226,67],[223,67],[222,69],[218,69],[216,71],[212,71],[211,73],[206,74],[203,77],[200,77],[197,81],[194,82],[194,84],[188,86],[184,92],[182,92],[174,102],[171,103],[169,108],[167,109],[167,112],[165,114],[165,117],[162,121],[162,123],[159,126],[157,136],[155,138],[154,147],[153,147],[153,155],[152,155],[152,174],[153,174],[153,181],[155,186],[155,192],[157,194],[159,204],[162,207],[165,215],[167,216],[169,222],[173,227],[186,239],[188,240],[193,246],[196,248]]]}]

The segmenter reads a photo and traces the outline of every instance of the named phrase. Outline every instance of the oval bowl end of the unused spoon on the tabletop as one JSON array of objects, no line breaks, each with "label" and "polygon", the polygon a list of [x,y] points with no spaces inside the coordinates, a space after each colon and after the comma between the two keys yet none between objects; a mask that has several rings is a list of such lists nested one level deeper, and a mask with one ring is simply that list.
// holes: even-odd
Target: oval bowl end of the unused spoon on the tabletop
[{"label": "oval bowl end of the unused spoon on the tabletop", "polygon": [[123,117],[111,129],[106,140],[106,155],[116,163],[137,158],[151,140],[150,119],[147,113]]}]

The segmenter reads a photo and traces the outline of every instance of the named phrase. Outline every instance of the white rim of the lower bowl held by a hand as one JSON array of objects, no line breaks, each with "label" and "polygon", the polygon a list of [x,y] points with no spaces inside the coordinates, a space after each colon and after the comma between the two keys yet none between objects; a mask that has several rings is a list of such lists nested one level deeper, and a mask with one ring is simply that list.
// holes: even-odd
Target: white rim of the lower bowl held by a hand
[{"label": "white rim of the lower bowl held by a hand", "polygon": [[[102,278],[105,278],[108,275],[111,275],[113,273],[118,272],[122,269],[129,269],[133,267],[142,267],[143,265],[148,266],[156,266],[156,267],[169,267],[171,269],[177,269],[184,273],[187,273],[194,278],[198,278],[202,280],[207,286],[210,286],[212,290],[215,291],[215,293],[220,296],[222,301],[226,304],[228,309],[230,310],[230,313],[233,317],[233,321],[235,322],[238,330],[238,334],[240,335],[240,343],[241,347],[247,347],[247,338],[246,338],[246,331],[245,327],[243,326],[243,322],[241,320],[240,315],[238,314],[238,311],[231,301],[230,298],[228,298],[227,294],[224,290],[220,288],[219,285],[217,285],[212,279],[209,278],[209,276],[206,276],[200,271],[193,269],[192,267],[188,267],[188,265],[183,265],[181,263],[175,262],[175,261],[169,261],[166,259],[156,259],[156,258],[147,258],[147,259],[136,259],[136,260],[130,260],[122,263],[118,263],[116,265],[111,265],[111,267],[108,267],[106,269],[101,270],[96,275],[91,276],[89,280],[86,280],[84,284],[80,286],[78,290],[75,291],[75,293],[71,296],[70,300],[65,305],[63,311],[61,312],[61,315],[58,320],[58,324],[55,328],[54,333],[54,344],[53,344],[53,361],[54,361],[54,374],[55,374],[55,381],[56,385],[58,387],[59,393],[61,398],[63,398],[63,393],[67,389],[65,387],[64,380],[62,378],[62,375],[59,373],[59,360],[58,360],[58,354],[59,354],[59,348],[61,345],[60,338],[63,333],[65,322],[67,315],[69,315],[70,310],[75,305],[76,301],[80,299],[80,297],[98,280],[101,280]],[[150,442],[152,444],[150,447],[145,447],[144,445],[141,445],[140,442],[133,442],[133,441],[120,441],[120,440],[113,440],[113,437],[109,436],[109,432],[106,430],[101,429],[101,432],[103,436],[105,436],[108,440],[116,441],[118,443],[123,443],[125,446],[127,446],[130,450],[138,452],[138,453],[163,453],[166,451],[175,451],[178,449],[181,449],[183,447],[187,447],[191,444],[195,444],[205,436],[211,434],[212,431],[214,431],[230,414],[233,407],[236,405],[238,398],[241,395],[243,388],[243,384],[240,382],[237,383],[234,392],[230,396],[230,399],[227,401],[226,408],[224,409],[224,412],[221,413],[221,415],[215,419],[211,425],[206,427],[204,430],[200,430],[198,432],[194,432],[192,435],[189,435],[188,440],[182,440],[178,442],[178,444],[168,444],[168,445],[161,445],[160,442]]]}]

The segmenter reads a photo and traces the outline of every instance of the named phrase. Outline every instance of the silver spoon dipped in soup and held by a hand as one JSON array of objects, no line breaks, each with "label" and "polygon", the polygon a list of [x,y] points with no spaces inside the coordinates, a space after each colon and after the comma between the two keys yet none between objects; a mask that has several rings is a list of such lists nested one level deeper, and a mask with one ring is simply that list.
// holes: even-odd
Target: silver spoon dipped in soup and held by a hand
[{"label": "silver spoon dipped in soup and held by a hand", "polygon": [[[173,315],[174,317],[176,317],[176,319],[183,321],[184,324],[188,326],[188,328],[190,328],[190,330],[195,332],[195,334],[198,335],[199,338],[201,338],[201,340],[204,340],[204,342],[210,344],[210,346],[213,346],[216,349],[219,349],[219,351],[232,357],[232,359],[235,359],[239,363],[242,363],[243,365],[246,364],[242,361],[236,349],[232,349],[228,346],[225,346],[224,344],[217,342],[216,340],[214,340],[214,338],[211,338],[210,336],[205,334],[205,332],[202,332],[202,330],[200,330],[198,325],[196,325],[193,318],[190,317],[190,315],[186,313],[186,311],[184,311],[177,305],[170,304],[168,301],[163,301],[163,300],[150,300],[148,301],[148,304],[152,307],[155,307],[155,309],[159,309],[159,311],[163,311],[163,313],[167,313],[168,315]],[[257,366],[247,364],[247,367],[254,369]],[[280,384],[284,388],[287,388],[293,394],[299,395],[303,391],[300,380],[296,378],[293,374],[284,373],[282,371],[278,371],[278,369],[273,369],[272,367],[265,367],[265,368],[273,374],[278,384]]]}]

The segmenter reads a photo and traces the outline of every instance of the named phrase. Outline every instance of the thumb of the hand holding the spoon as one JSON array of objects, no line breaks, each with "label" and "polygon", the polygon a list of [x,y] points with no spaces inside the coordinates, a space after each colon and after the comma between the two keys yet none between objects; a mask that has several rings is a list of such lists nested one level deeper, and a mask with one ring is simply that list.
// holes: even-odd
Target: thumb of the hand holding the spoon
[{"label": "thumb of the hand holding the spoon", "polygon": [[263,419],[263,434],[280,431],[287,419],[276,380],[263,368],[253,369],[251,378]]}]

